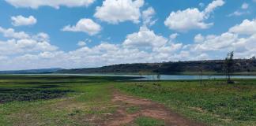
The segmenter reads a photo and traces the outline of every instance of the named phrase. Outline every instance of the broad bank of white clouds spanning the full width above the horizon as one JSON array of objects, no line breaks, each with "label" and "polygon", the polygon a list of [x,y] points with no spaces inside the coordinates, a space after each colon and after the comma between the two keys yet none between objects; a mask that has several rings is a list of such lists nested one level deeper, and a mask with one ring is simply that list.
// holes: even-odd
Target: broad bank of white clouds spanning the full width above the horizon
[{"label": "broad bank of white clouds spanning the full width above the horizon", "polygon": [[[70,69],[136,62],[220,59],[232,50],[235,50],[235,58],[252,57],[256,54],[256,31],[244,31],[246,28],[243,27],[250,25],[253,28],[254,21],[243,20],[220,35],[195,35],[194,43],[190,44],[171,41],[178,34],[165,38],[146,27],[127,35],[120,44],[102,42],[66,52],[52,46],[46,33],[28,35],[26,39],[10,37],[0,41],[0,51],[3,52],[0,54],[0,69]],[[233,28],[235,30],[231,30]],[[243,30],[237,30],[240,28]]]}]

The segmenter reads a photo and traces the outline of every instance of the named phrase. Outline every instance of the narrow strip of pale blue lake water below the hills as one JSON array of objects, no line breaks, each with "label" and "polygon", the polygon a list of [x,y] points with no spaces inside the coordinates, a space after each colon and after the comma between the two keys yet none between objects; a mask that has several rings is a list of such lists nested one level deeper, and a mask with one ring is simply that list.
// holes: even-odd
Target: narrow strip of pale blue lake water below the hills
[{"label": "narrow strip of pale blue lake water below the hills", "polygon": [[[58,75],[58,74],[57,74]],[[143,77],[135,80],[199,80],[199,79],[224,79],[226,76],[192,76],[192,75],[117,75],[117,74],[59,74],[73,76],[134,76]],[[256,76],[232,76],[236,79],[256,79]]]}]

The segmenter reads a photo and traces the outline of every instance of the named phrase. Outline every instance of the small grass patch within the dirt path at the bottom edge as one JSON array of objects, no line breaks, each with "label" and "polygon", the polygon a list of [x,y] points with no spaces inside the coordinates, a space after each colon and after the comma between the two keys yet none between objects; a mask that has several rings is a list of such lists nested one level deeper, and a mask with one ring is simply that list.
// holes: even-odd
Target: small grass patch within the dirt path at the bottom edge
[{"label": "small grass patch within the dirt path at the bottom edge", "polygon": [[156,120],[151,117],[138,117],[135,126],[164,126],[164,120]]}]

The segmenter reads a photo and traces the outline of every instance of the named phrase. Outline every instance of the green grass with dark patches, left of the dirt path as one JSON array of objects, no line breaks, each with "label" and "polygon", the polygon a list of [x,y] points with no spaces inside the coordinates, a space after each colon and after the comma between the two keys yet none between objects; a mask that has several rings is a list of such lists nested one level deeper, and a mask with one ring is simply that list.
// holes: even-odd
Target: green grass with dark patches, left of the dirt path
[{"label": "green grass with dark patches, left of the dirt path", "polygon": [[110,83],[125,77],[0,76],[0,125],[85,125],[114,113]]}]

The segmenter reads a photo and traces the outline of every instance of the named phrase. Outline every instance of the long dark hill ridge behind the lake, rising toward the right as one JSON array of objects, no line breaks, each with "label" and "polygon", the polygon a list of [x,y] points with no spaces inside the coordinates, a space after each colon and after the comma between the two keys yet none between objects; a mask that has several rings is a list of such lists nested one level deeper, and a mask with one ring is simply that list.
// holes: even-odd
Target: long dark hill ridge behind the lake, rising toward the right
[{"label": "long dark hill ridge behind the lake, rising toward the right", "polygon": [[[223,73],[224,61],[175,61],[163,63],[135,63],[122,65],[109,65],[100,68],[87,69],[62,69],[58,73],[160,73],[160,74],[177,74],[177,73],[197,73],[199,69],[203,72]],[[255,72],[255,59],[235,59],[234,72]]]}]

